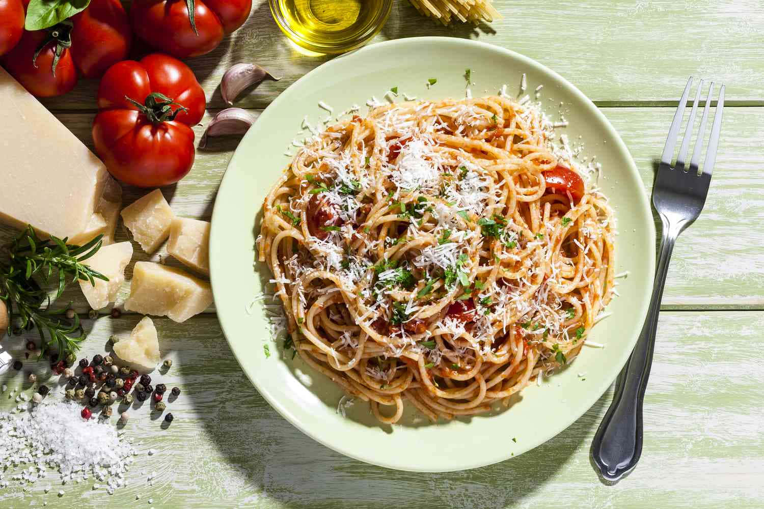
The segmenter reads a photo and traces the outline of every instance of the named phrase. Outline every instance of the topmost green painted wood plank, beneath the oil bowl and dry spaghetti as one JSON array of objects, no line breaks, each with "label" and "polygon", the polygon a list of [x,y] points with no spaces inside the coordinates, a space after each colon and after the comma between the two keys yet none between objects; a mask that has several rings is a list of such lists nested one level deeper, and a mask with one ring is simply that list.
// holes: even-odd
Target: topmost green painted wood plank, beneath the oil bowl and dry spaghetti
[{"label": "topmost green painted wood plank, beneath the oil bowl and dry spaghetti", "polygon": [[[416,36],[464,37],[523,53],[562,74],[595,101],[676,101],[687,76],[727,84],[730,104],[764,104],[764,5],[758,0],[716,2],[572,2],[497,0],[503,20],[479,27],[442,27],[404,0],[375,41]],[[223,107],[218,85],[234,63],[254,62],[283,76],[264,82],[238,105],[264,108],[279,92],[329,57],[303,56],[271,18],[266,0],[220,47],[189,59],[211,107]],[[390,85],[380,84],[380,93]],[[52,108],[95,108],[95,80],[44,101]]]}]

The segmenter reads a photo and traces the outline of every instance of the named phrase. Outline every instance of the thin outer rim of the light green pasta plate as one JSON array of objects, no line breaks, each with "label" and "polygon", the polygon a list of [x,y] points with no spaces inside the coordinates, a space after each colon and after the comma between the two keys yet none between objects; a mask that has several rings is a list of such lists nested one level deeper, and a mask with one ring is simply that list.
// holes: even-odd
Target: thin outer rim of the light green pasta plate
[{"label": "thin outer rim of the light green pasta plate", "polygon": [[[610,121],[602,113],[602,111],[600,111],[600,108],[597,108],[597,105],[594,105],[594,102],[591,101],[591,99],[588,98],[587,95],[584,95],[584,93],[581,92],[581,90],[579,90],[578,87],[573,85],[571,82],[568,82],[568,80],[565,79],[560,74],[558,74],[558,72],[555,72],[554,70],[549,69],[549,67],[545,66],[542,63],[539,63],[536,60],[533,60],[529,56],[525,56],[522,53],[517,53],[516,51],[508,50],[507,48],[500,47],[491,43],[486,43],[480,40],[461,39],[458,37],[428,36],[428,37],[404,37],[400,39],[386,40],[386,41],[381,41],[378,43],[367,44],[366,46],[361,47],[358,50],[354,50],[349,53],[345,53],[342,56],[335,57],[332,60],[328,60],[325,63],[322,63],[319,66],[316,66],[314,69],[311,69],[309,72],[306,72],[305,75],[301,76],[299,79],[296,79],[296,81],[293,82],[289,87],[284,89],[283,92],[280,92],[277,98],[271,101],[270,104],[267,105],[266,108],[264,108],[263,112],[261,113],[257,121],[260,121],[260,119],[263,118],[264,115],[267,114],[270,110],[279,108],[280,104],[283,101],[288,100],[286,92],[288,92],[290,89],[292,89],[293,87],[296,87],[296,85],[303,82],[304,80],[310,79],[312,75],[319,72],[323,72],[323,69],[325,68],[331,68],[332,66],[342,65],[342,63],[345,60],[345,57],[362,54],[369,50],[378,50],[380,47],[394,48],[397,46],[405,46],[412,43],[416,44],[417,41],[481,47],[483,50],[497,51],[499,53],[503,53],[505,56],[509,56],[510,58],[519,60],[526,66],[535,68],[536,70],[542,73],[549,74],[550,76],[552,76],[553,78],[561,82],[562,85],[565,86],[566,89],[568,89],[568,92],[571,92],[573,95],[575,95],[578,101],[580,101],[581,106],[585,106],[586,108],[588,108],[591,114],[593,114],[594,117],[596,117],[599,121],[601,121],[601,124],[604,125],[605,129],[608,131],[608,134],[610,134],[610,137],[616,140],[617,150],[620,153],[622,153],[625,156],[625,159],[628,161],[629,163],[627,166],[628,172],[630,172],[632,176],[636,177],[638,181],[642,180],[641,176],[639,175],[639,169],[636,166],[633,156],[628,150],[628,147],[626,147],[626,143],[623,142],[623,139],[620,137],[620,134],[618,133],[618,131],[615,129],[615,127],[613,127],[613,124],[610,124]],[[240,147],[242,146],[246,138],[247,138],[247,135],[245,135],[244,138],[242,138],[241,142],[239,143],[234,153],[231,154],[231,159],[229,159],[228,164],[226,165],[225,172],[222,176],[218,191],[216,192],[216,195],[215,195],[215,205],[212,208],[211,228],[210,228],[210,237],[209,237],[209,246],[210,246],[209,247],[209,265],[210,265],[210,284],[212,285],[213,295],[219,292],[225,291],[225,288],[222,288],[222,282],[219,279],[220,276],[216,277],[216,274],[219,274],[219,272],[214,269],[214,267],[217,265],[216,261],[218,259],[218,256],[219,255],[221,257],[225,256],[225,253],[222,253],[222,252],[218,253],[218,250],[215,249],[215,246],[220,245],[218,242],[216,242],[216,240],[218,239],[215,232],[218,231],[219,229],[215,228],[215,224],[219,224],[224,221],[221,217],[219,217],[221,215],[220,213],[221,208],[218,206],[219,205],[217,200],[218,193],[222,190],[223,186],[225,185],[225,182],[229,177],[228,169],[231,168],[231,165],[235,164],[237,153],[239,153]],[[649,217],[652,218],[652,208],[649,204],[647,193],[644,191],[637,193],[637,200],[638,200],[638,203],[637,203],[638,208],[641,211],[647,211]],[[655,240],[656,240],[655,224],[653,221],[646,221],[646,224],[647,224],[646,233],[648,234],[650,240],[652,240],[652,243],[650,243],[649,245],[652,246],[655,244]],[[649,249],[648,253],[646,253],[646,256],[648,257],[647,261],[648,261],[649,274],[654,275],[656,270],[655,250]],[[218,290],[216,290],[216,288],[218,288]],[[639,307],[636,310],[637,311],[636,316],[641,318],[640,321],[644,321],[647,315],[650,295],[651,295],[651,292],[646,292],[645,295],[642,296],[642,301],[639,303]],[[268,404],[270,404],[271,408],[274,408],[274,410],[276,410],[284,419],[286,419],[290,424],[292,424],[302,433],[312,438],[312,440],[316,440],[316,442],[321,443],[322,445],[329,447],[329,449],[332,449],[338,453],[341,453],[353,459],[357,459],[358,461],[361,461],[361,462],[366,462],[366,463],[370,463],[372,465],[384,467],[387,469],[400,470],[404,472],[460,472],[463,470],[476,469],[482,466],[493,465],[497,462],[503,462],[503,461],[506,461],[507,459],[518,457],[521,454],[528,452],[529,450],[535,449],[536,447],[540,446],[542,443],[552,440],[552,438],[556,437],[559,433],[562,433],[562,431],[568,429],[568,427],[571,427],[571,425],[574,424],[576,420],[580,419],[594,405],[594,403],[599,398],[601,398],[602,395],[604,395],[605,391],[607,391],[607,388],[610,387],[610,385],[613,383],[613,380],[617,378],[617,375],[623,369],[623,366],[625,366],[626,361],[629,359],[629,356],[631,355],[633,347],[636,345],[636,341],[639,339],[639,330],[635,330],[632,334],[632,337],[627,338],[629,339],[629,344],[627,345],[626,348],[623,349],[623,353],[621,353],[620,357],[616,359],[615,362],[613,362],[613,366],[617,366],[617,369],[613,369],[612,377],[610,376],[604,377],[604,381],[601,382],[600,385],[597,385],[596,387],[593,387],[589,391],[587,391],[589,397],[585,398],[584,403],[581,404],[582,407],[585,406],[584,411],[581,414],[578,414],[577,412],[572,412],[569,414],[571,418],[558,420],[559,425],[555,427],[555,431],[550,437],[545,437],[541,440],[529,441],[529,446],[526,449],[524,449],[523,452],[514,454],[513,456],[509,456],[509,453],[507,454],[494,453],[493,455],[490,455],[490,457],[484,456],[479,461],[466,462],[463,466],[458,466],[453,468],[452,467],[418,468],[416,466],[406,465],[405,462],[394,463],[394,462],[386,462],[386,461],[377,461],[372,458],[358,455],[354,453],[351,448],[344,447],[336,443],[330,443],[329,440],[323,439],[319,433],[316,433],[313,430],[308,429],[307,427],[303,427],[300,421],[289,410],[287,410],[283,406],[283,404],[280,403],[279,399],[274,398],[273,395],[271,395],[270,392],[267,390],[267,388],[261,388],[261,386],[257,384],[254,373],[251,374],[250,370],[244,367],[244,362],[242,362],[242,359],[240,359],[239,354],[237,353],[235,342],[229,339],[229,335],[235,335],[234,331],[227,330],[225,322],[221,319],[220,309],[216,310],[216,315],[218,317],[218,321],[222,329],[223,335],[225,336],[225,340],[228,342],[228,346],[231,348],[231,353],[234,354],[234,357],[236,361],[238,362],[239,366],[241,367],[241,370],[244,372],[244,375],[247,376],[247,378],[249,379],[251,384],[254,386],[254,388],[260,393],[260,395],[263,396],[263,398],[268,402]]]}]

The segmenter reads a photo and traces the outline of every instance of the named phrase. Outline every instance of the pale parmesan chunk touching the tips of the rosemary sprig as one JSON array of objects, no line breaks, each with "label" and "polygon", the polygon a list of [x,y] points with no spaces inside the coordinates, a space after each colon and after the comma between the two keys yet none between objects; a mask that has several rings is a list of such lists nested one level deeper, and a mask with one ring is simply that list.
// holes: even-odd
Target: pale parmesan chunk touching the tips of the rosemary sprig
[{"label": "pale parmesan chunk touching the tips of the rosemary sprig", "polygon": [[108,281],[95,279],[95,285],[91,285],[87,280],[79,280],[79,288],[82,288],[83,295],[91,308],[105,308],[109,302],[116,300],[117,292],[125,281],[125,267],[128,266],[132,257],[132,244],[120,242],[102,246],[97,253],[83,262],[108,278]]}]

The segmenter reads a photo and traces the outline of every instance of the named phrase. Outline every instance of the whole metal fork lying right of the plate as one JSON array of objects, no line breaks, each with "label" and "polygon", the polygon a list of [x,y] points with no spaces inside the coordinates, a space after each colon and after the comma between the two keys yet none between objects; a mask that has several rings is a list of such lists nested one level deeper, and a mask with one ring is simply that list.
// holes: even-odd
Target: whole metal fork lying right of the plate
[{"label": "whole metal fork lying right of the plate", "polygon": [[679,107],[676,108],[674,120],[669,129],[669,137],[661,156],[661,163],[652,188],[652,204],[661,217],[663,224],[663,239],[658,258],[658,269],[652,289],[652,299],[647,312],[639,340],[626,366],[618,377],[613,403],[607,409],[594,441],[591,444],[591,456],[600,469],[602,477],[608,481],[617,481],[630,472],[642,455],[642,405],[645,398],[645,388],[652,364],[652,352],[656,343],[656,327],[658,312],[663,296],[666,272],[669,270],[669,259],[677,237],[690,226],[701,214],[711,184],[711,172],[716,161],[721,129],[722,110],[724,109],[724,85],[721,85],[717,99],[714,125],[711,127],[711,137],[703,164],[703,172],[698,175],[698,161],[704,140],[704,130],[708,118],[708,108],[711,105],[711,93],[714,83],[708,89],[706,105],[703,109],[698,137],[695,140],[689,169],[685,168],[690,138],[695,123],[695,113],[698,111],[698,98],[701,96],[703,80],[698,85],[695,101],[688,119],[685,137],[681,141],[676,165],[672,168],[674,147],[679,135],[679,127],[685,112],[692,77],[687,82],[685,92],[681,95]]}]

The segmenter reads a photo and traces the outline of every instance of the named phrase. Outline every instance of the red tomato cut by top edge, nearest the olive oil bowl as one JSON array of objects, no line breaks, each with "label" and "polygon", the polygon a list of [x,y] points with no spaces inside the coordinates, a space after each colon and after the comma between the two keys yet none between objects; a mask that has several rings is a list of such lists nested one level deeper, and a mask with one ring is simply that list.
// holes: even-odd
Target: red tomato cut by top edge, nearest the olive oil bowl
[{"label": "red tomato cut by top edge, nearest the olive oil bowl", "polygon": [[[193,8],[194,24],[189,19]],[[138,37],[179,58],[218,47],[223,36],[247,21],[252,0],[134,0],[130,7]]]}]

